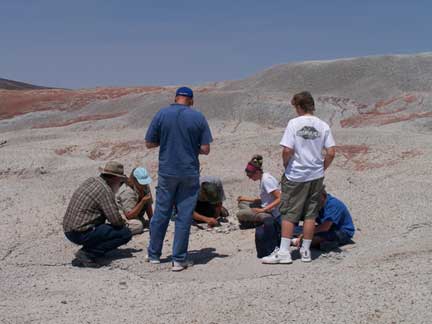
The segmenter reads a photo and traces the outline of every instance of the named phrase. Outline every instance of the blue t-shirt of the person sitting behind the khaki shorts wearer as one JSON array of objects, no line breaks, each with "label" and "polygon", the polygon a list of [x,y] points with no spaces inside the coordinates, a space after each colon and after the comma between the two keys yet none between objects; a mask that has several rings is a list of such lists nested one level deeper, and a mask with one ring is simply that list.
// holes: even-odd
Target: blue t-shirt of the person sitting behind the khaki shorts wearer
[{"label": "blue t-shirt of the person sitting behind the khaki shorts wearer", "polygon": [[319,212],[316,219],[318,224],[322,224],[325,221],[333,223],[332,229],[337,229],[349,235],[354,236],[355,228],[351,218],[351,214],[345,204],[339,199],[327,194],[327,201]]}]

